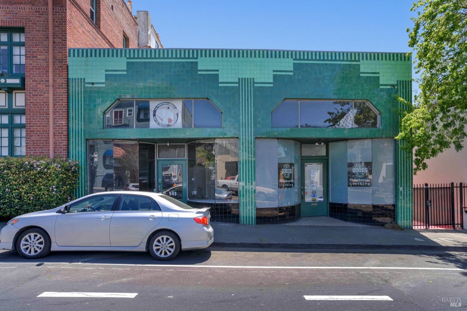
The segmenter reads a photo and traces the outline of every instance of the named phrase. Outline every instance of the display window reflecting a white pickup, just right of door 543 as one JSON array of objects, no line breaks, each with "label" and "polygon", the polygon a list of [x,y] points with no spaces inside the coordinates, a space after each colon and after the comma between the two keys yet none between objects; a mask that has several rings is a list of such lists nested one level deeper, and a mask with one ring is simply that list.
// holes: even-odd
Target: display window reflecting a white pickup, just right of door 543
[{"label": "display window reflecting a white pickup, just right of door 543", "polygon": [[188,147],[188,200],[238,202],[238,139],[201,140]]}]

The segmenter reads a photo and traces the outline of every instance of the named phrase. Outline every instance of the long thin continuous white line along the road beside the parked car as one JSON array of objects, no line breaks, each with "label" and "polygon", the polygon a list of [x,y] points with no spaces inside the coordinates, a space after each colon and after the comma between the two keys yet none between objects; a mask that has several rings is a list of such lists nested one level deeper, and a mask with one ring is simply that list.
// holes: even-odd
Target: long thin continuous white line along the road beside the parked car
[{"label": "long thin continuous white line along the road beside the parked car", "polygon": [[110,265],[137,267],[169,267],[169,268],[229,268],[229,269],[369,269],[369,270],[452,270],[467,271],[460,268],[426,268],[426,267],[294,267],[294,266],[216,266],[204,264],[139,264],[139,263],[70,263],[72,265]]}]

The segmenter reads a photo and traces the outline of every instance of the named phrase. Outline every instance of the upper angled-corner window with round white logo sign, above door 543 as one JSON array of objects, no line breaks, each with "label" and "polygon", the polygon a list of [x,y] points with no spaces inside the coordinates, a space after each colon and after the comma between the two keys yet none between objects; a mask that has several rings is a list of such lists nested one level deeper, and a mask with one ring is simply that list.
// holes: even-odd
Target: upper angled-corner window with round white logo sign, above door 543
[{"label": "upper angled-corner window with round white logo sign, above door 543", "polygon": [[222,112],[208,99],[119,99],[104,112],[104,128],[222,127]]}]

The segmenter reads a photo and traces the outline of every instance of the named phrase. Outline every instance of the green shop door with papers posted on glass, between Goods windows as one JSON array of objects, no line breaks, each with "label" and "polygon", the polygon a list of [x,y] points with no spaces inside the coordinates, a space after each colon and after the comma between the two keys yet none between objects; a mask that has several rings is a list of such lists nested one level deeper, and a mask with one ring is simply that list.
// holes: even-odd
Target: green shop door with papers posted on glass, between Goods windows
[{"label": "green shop door with papers posted on glass, between Goods windows", "polygon": [[327,159],[302,159],[302,217],[327,216]]}]

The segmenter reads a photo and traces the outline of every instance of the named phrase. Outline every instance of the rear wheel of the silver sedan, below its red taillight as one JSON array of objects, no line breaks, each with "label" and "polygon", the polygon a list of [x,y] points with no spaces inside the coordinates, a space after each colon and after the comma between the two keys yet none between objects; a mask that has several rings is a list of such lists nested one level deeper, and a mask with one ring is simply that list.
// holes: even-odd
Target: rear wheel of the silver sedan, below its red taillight
[{"label": "rear wheel of the silver sedan, below its red taillight", "polygon": [[[164,245],[164,243],[167,245]],[[178,255],[179,251],[180,240],[173,232],[159,231],[149,241],[149,253],[157,260],[172,260]]]}]

